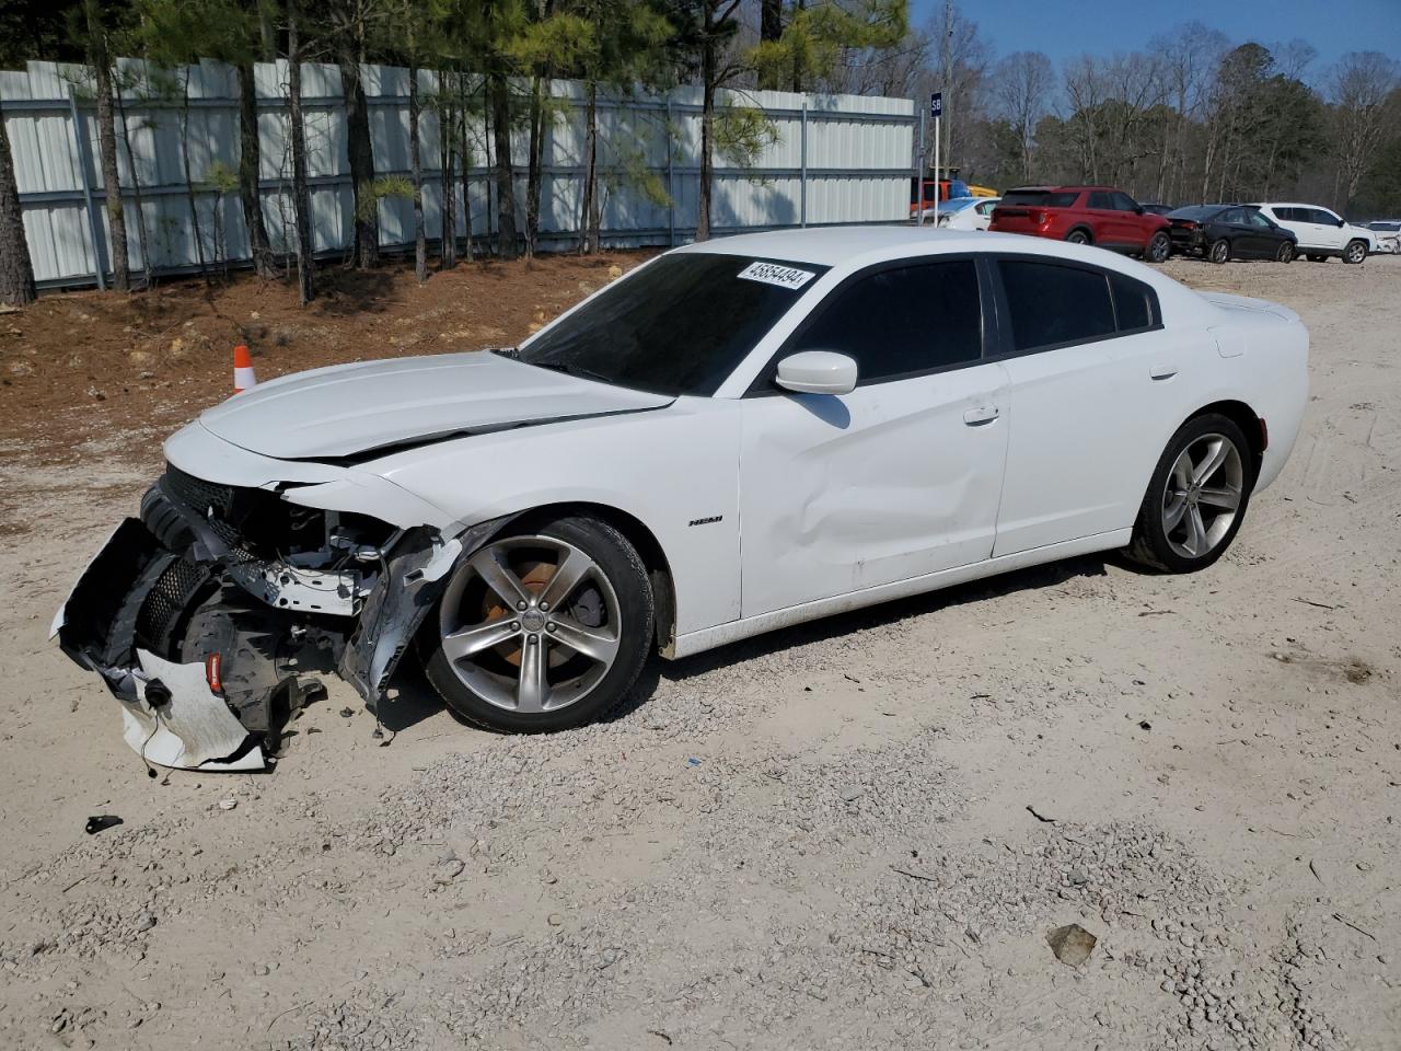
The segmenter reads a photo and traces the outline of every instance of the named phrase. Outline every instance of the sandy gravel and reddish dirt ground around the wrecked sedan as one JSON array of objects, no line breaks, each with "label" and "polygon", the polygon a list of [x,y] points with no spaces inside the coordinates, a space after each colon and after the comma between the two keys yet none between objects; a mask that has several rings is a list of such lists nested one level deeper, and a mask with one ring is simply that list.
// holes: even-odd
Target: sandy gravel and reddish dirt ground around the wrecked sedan
[{"label": "sandy gravel and reddish dirt ground around the wrecked sedan", "polygon": [[510,342],[633,261],[0,317],[0,1047],[1401,1045],[1395,258],[1168,265],[1313,335],[1209,572],[1084,558],[657,661],[552,737],[409,674],[375,739],[335,681],[275,774],[146,776],[45,636],[226,345]]}]

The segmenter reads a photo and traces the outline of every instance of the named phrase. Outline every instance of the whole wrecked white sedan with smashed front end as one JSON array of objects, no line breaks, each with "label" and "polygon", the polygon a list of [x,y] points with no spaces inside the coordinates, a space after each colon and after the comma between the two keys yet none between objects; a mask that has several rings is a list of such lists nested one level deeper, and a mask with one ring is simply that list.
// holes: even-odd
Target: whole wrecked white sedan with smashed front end
[{"label": "whole wrecked white sedan with smashed front end", "polygon": [[1289,455],[1307,352],[1283,307],[1098,248],[688,245],[518,348],[209,409],[56,632],[167,765],[256,765],[298,674],[378,705],[415,647],[467,719],[559,730],[653,649],[1089,552],[1205,569]]}]

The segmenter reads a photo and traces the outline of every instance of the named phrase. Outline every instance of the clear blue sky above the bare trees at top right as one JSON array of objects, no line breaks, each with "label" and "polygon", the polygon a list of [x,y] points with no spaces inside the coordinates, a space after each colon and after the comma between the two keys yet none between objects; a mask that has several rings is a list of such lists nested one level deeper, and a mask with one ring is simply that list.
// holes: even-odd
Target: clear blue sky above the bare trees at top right
[{"label": "clear blue sky above the bare trees at top right", "polygon": [[[911,0],[911,21],[923,25],[943,7],[943,0]],[[1191,21],[1220,29],[1233,43],[1303,38],[1318,50],[1310,78],[1349,50],[1401,60],[1401,0],[962,0],[958,8],[999,56],[1041,50],[1058,66],[1086,52],[1138,50],[1154,34]]]}]

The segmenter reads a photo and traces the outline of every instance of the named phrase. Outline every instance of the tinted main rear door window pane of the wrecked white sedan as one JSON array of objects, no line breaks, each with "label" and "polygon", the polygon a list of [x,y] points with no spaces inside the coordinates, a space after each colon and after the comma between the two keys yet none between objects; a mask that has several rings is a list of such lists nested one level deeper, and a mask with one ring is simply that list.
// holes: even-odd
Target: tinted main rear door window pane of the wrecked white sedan
[{"label": "tinted main rear door window pane of the wrecked white sedan", "polygon": [[1114,303],[1103,270],[1031,259],[1000,259],[998,268],[1017,352],[1114,335]]}]

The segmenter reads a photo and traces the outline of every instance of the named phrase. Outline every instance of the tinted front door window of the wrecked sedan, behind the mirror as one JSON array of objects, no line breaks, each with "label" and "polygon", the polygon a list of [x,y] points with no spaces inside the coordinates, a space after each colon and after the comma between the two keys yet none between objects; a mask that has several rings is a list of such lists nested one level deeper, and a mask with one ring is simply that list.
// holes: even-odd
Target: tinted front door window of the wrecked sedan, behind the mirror
[{"label": "tinted front door window of the wrecked sedan, behind the mirror", "polygon": [[856,359],[857,383],[976,362],[982,300],[972,259],[878,270],[836,290],[793,349]]}]

